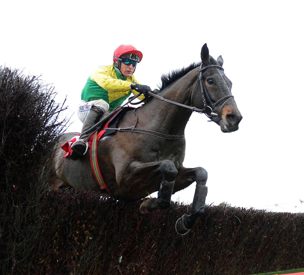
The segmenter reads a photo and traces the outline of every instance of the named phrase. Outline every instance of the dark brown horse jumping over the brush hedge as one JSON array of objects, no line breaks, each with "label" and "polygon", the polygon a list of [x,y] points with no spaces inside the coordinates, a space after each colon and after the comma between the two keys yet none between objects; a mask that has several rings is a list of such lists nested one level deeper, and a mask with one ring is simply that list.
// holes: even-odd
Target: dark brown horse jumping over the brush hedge
[{"label": "dark brown horse jumping over the brush hedge", "polygon": [[[196,182],[190,215],[184,214],[175,225],[178,234],[187,234],[205,212],[207,172],[202,167],[183,166],[185,127],[191,114],[199,112],[222,132],[237,131],[242,115],[231,86],[222,56],[215,60],[206,44],[201,62],[162,75],[159,92],[149,93],[153,97],[149,102],[127,111],[115,133],[101,138],[97,145],[98,164],[110,195],[117,200],[141,200],[158,191],[157,198],[150,197],[140,205],[140,212],[149,214],[168,209],[172,194]],[[121,131],[130,128],[132,131]],[[65,152],[60,146],[74,136],[65,133],[60,138],[52,185],[106,192],[92,174],[88,153],[77,161],[62,158]]]}]

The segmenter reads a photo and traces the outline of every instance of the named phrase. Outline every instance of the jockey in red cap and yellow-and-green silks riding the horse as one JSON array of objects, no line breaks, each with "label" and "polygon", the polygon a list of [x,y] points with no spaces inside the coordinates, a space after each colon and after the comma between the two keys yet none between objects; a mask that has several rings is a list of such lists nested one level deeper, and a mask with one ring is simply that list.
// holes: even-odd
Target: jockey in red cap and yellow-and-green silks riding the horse
[{"label": "jockey in red cap and yellow-and-green silks riding the horse", "polygon": [[120,106],[131,92],[142,93],[142,100],[151,92],[150,87],[141,85],[133,76],[137,63],[143,54],[132,45],[120,45],[113,56],[113,64],[100,66],[88,78],[81,92],[82,103],[78,106],[78,117],[83,122],[78,141],[71,146],[71,159],[77,160],[88,149],[85,132],[95,125],[108,110]]}]

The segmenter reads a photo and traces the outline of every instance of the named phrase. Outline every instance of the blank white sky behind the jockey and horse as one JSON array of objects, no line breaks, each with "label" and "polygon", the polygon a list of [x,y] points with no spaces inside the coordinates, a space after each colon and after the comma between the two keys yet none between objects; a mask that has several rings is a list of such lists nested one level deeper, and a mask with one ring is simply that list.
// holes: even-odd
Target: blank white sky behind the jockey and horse
[{"label": "blank white sky behind the jockey and horse", "polygon": [[[143,52],[134,75],[155,89],[207,43],[244,118],[224,134],[193,114],[184,166],[208,171],[207,204],[304,212],[302,11],[301,1],[5,1],[0,65],[42,75],[73,113],[88,76],[120,44]],[[68,131],[80,131],[76,113],[71,121]],[[190,203],[194,190],[172,199]]]}]

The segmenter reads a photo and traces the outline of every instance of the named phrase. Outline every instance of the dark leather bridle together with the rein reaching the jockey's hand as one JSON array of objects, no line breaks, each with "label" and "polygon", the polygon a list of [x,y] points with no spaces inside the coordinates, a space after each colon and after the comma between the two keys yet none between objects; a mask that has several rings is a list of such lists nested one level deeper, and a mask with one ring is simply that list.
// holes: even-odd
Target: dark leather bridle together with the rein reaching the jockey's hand
[{"label": "dark leather bridle together with the rein reaching the jockey's hand", "polygon": [[[230,97],[233,97],[233,95],[230,93],[230,90],[229,90],[229,88],[228,88],[228,86],[227,86],[227,84],[226,84],[226,87],[227,87],[227,89],[229,90],[229,93],[230,93],[230,94],[227,95],[227,96],[223,96],[221,99],[217,100],[217,101],[214,102],[214,103],[211,101],[211,99],[210,99],[210,97],[209,97],[209,95],[208,95],[208,92],[207,92],[207,90],[206,90],[206,87],[205,87],[205,84],[204,84],[204,81],[203,81],[203,76],[202,76],[202,71],[204,71],[204,70],[206,70],[206,69],[209,69],[209,68],[220,68],[221,70],[224,70],[223,67],[221,67],[221,66],[219,66],[219,65],[207,65],[207,66],[205,66],[205,67],[202,67],[202,64],[200,65],[200,67],[199,67],[199,79],[198,79],[198,82],[199,82],[199,84],[200,84],[201,94],[202,94],[202,100],[203,100],[203,104],[204,104],[203,109],[199,109],[199,108],[193,107],[193,103],[192,103],[192,101],[193,101],[193,95],[194,95],[195,91],[197,90],[196,87],[197,87],[198,82],[196,83],[196,85],[195,85],[195,87],[194,87],[194,89],[193,89],[193,91],[192,91],[192,93],[191,93],[191,105],[192,105],[192,106],[188,106],[188,105],[185,105],[185,104],[181,104],[181,103],[178,103],[178,102],[175,102],[175,101],[166,99],[166,98],[161,97],[161,96],[158,96],[158,95],[156,95],[156,94],[154,94],[154,93],[152,93],[152,92],[148,92],[148,94],[149,94],[150,96],[153,96],[153,97],[155,97],[155,98],[157,98],[157,99],[160,99],[160,100],[163,100],[163,101],[165,101],[165,102],[172,103],[172,104],[174,104],[174,105],[178,105],[178,106],[182,106],[182,107],[191,109],[192,112],[204,113],[204,114],[206,114],[207,117],[209,117],[209,118],[212,117],[213,120],[219,121],[219,120],[221,119],[221,117],[219,116],[218,113],[214,113],[214,112],[213,112],[214,107],[215,107],[216,105],[218,105],[219,103],[223,102],[223,103],[221,104],[221,106],[220,106],[219,108],[217,108],[217,110],[222,110],[222,108],[223,108],[223,106],[225,105],[225,103],[227,102],[227,100],[228,100]],[[224,80],[224,79],[223,79],[223,80]],[[225,81],[225,80],[224,80],[224,81]],[[225,82],[225,83],[226,83],[226,82]],[[209,105],[207,104],[206,99],[207,99],[207,101],[209,102],[209,104],[210,104],[211,106],[209,106]],[[210,113],[209,113],[209,112],[210,112]],[[216,118],[216,119],[215,119],[215,118]]]}]

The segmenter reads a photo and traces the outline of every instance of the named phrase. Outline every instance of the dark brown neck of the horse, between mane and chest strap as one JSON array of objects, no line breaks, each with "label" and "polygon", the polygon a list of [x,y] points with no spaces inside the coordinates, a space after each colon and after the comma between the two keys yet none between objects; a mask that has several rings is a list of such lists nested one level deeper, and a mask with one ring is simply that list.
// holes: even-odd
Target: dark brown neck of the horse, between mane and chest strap
[{"label": "dark brown neck of the horse, between mane and chest strap", "polygon": [[[160,93],[160,96],[181,104],[190,105],[191,92],[194,89],[197,78],[198,71],[194,69],[166,87]],[[158,130],[158,132],[164,134],[183,134],[191,114],[192,110],[190,109],[155,98],[147,104],[147,115],[151,116],[148,122],[150,125],[147,126],[152,126],[155,131]]]}]

